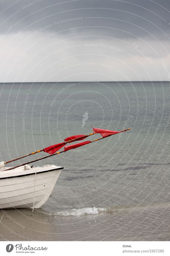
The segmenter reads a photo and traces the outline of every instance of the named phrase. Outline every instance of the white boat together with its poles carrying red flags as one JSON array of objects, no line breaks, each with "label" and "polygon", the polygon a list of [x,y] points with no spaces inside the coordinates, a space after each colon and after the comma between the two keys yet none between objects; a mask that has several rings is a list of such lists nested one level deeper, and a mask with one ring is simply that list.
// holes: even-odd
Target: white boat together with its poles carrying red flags
[{"label": "white boat together with its poles carrying red flags", "polygon": [[[28,165],[50,156],[64,153],[68,150],[82,147],[94,141],[99,141],[103,138],[114,134],[130,130],[130,128],[122,131],[110,131],[104,129],[93,128],[93,133],[87,135],[74,135],[64,139],[64,142],[46,147],[41,150],[29,153],[24,156],[0,162],[0,210],[5,208],[40,208],[49,198],[52,190],[60,175],[61,166],[46,165],[43,167],[34,167]],[[65,146],[67,143],[82,140],[93,134],[100,133],[101,138],[93,141],[84,141],[78,144]],[[64,147],[64,150],[58,151]],[[5,167],[7,163],[14,162],[26,156],[31,156],[39,152],[49,153],[50,156],[44,156],[27,163],[20,164],[14,167]]]}]

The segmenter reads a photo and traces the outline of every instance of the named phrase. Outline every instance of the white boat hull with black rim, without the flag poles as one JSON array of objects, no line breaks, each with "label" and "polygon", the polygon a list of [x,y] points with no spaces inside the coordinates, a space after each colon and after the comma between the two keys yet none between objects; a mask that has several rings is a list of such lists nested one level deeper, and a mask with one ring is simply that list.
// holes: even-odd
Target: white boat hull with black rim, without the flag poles
[{"label": "white boat hull with black rim, without the flag poles", "polygon": [[0,209],[40,208],[49,198],[63,167],[24,165],[0,168]]}]

